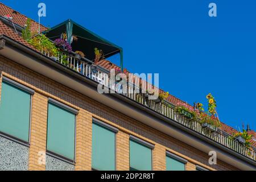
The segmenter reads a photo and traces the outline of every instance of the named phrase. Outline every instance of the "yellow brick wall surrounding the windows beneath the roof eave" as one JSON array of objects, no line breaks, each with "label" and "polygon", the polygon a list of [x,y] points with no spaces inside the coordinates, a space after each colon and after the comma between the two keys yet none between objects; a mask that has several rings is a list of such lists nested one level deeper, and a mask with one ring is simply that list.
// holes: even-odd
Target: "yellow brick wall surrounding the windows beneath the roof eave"
[{"label": "yellow brick wall surrounding the windows beneath the roof eave", "polygon": [[[68,106],[71,106],[79,110],[77,115],[77,142],[76,142],[76,170],[90,170],[91,169],[91,151],[92,151],[92,118],[100,119],[102,122],[108,123],[119,129],[117,134],[117,170],[129,169],[129,135],[141,138],[146,142],[155,144],[155,149],[152,152],[153,156],[153,169],[165,170],[166,150],[173,152],[174,154],[187,159],[189,163],[195,165],[198,164],[202,167],[211,170],[236,170],[233,166],[226,164],[218,160],[216,166],[209,166],[209,156],[204,152],[197,150],[188,144],[180,142],[179,140],[172,138],[166,134],[152,129],[144,125],[141,122],[136,121],[133,118],[125,114],[121,114],[109,107],[102,105],[101,103],[92,100],[74,90],[58,84],[56,81],[50,80],[30,69],[24,68],[19,64],[5,59],[0,56],[0,72],[6,77],[9,77],[20,84],[26,85],[31,89],[34,89],[35,99],[40,97],[43,104],[34,108],[40,107],[40,113],[32,111],[34,115],[43,115],[43,120],[40,122],[47,122],[45,115],[47,114],[46,98],[51,97],[57,101],[63,102]],[[33,103],[34,103],[33,98]],[[36,102],[35,102],[36,103]],[[44,142],[46,140],[46,131],[44,130],[46,124],[42,123],[43,129],[38,129],[36,119],[32,119],[32,126],[35,134],[41,133],[40,140],[34,138],[33,145],[31,145],[30,156],[30,169],[44,169],[44,166],[38,166],[35,164],[36,151],[44,148]],[[32,136],[32,135],[31,135]],[[45,150],[45,148],[44,148]],[[188,164],[188,169],[192,167]]]}]

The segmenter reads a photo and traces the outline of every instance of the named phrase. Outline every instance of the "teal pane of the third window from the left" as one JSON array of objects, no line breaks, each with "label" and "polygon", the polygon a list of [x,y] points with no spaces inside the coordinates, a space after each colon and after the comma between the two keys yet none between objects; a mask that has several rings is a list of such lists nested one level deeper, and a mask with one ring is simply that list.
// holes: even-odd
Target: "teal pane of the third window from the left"
[{"label": "teal pane of the third window from the left", "polygon": [[115,133],[97,123],[92,127],[92,168],[115,170]]}]

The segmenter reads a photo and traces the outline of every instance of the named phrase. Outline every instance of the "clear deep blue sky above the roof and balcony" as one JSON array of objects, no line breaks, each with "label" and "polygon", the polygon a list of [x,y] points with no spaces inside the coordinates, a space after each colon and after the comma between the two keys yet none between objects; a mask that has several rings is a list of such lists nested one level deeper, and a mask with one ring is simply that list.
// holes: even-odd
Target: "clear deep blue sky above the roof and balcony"
[{"label": "clear deep blue sky above the roof and balcony", "polygon": [[[220,119],[256,129],[256,1],[16,1],[7,6],[52,27],[73,19],[123,47],[124,67],[160,73],[160,88],[189,104],[212,93]],[[208,16],[210,2],[217,18]]]}]

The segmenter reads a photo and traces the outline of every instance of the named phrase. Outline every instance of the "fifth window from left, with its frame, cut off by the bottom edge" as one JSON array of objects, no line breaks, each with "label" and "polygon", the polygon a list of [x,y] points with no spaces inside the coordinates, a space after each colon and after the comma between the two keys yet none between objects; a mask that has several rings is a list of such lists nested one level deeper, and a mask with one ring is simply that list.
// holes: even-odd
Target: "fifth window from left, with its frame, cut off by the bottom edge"
[{"label": "fifth window from left, with its frame, cut off by the bottom edge", "polygon": [[166,171],[185,171],[185,164],[187,163],[187,160],[170,152],[166,154]]}]

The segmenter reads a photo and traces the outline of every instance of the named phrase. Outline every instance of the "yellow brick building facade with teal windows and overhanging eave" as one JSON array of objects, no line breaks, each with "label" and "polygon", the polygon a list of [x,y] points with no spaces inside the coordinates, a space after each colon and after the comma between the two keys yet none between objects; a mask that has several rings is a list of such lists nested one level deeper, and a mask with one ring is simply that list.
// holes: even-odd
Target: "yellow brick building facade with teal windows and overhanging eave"
[{"label": "yellow brick building facade with teal windows and overhanging eave", "polygon": [[[23,17],[13,16],[14,23]],[[100,94],[100,73],[69,69],[2,20],[0,28],[0,170],[256,169],[255,152],[236,141],[232,147],[224,131],[204,133],[171,107],[159,111],[133,96]],[[101,61],[99,72],[105,63],[111,64]],[[217,164],[209,164],[210,151]]]}]

